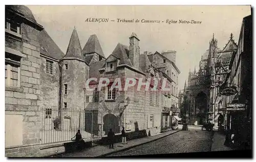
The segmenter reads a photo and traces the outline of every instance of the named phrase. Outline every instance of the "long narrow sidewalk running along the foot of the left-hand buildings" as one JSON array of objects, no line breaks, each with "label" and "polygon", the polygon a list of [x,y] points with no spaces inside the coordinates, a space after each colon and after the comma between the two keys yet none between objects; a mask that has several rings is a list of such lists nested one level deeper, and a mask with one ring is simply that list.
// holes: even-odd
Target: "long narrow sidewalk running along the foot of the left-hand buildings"
[{"label": "long narrow sidewalk running along the foot of the left-hand buildings", "polygon": [[131,141],[127,141],[127,145],[123,145],[122,143],[115,143],[114,144],[114,149],[109,149],[109,146],[94,146],[91,148],[87,148],[81,152],[73,152],[73,153],[63,153],[63,154],[58,154],[58,155],[53,155],[51,157],[103,157],[115,152],[119,152],[119,151],[125,151],[125,150],[129,150],[133,147],[142,145],[142,144],[146,144],[152,141],[156,141],[159,138],[165,137],[167,135],[176,133],[181,131],[179,130],[169,130],[160,134],[156,134],[153,136],[147,136],[144,138],[138,138],[136,140],[131,140]]}]

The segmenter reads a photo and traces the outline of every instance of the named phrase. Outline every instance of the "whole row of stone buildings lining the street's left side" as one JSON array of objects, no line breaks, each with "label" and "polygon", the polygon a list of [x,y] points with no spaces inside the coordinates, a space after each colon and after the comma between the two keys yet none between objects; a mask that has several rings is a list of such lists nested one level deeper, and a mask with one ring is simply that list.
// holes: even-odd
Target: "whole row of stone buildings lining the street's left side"
[{"label": "whole row of stone buildings lining the street's left side", "polygon": [[[162,112],[179,112],[176,52],[156,52],[162,63],[153,63],[153,55],[140,54],[135,33],[129,46],[118,43],[106,58],[96,35],[82,49],[74,28],[63,53],[26,6],[6,6],[5,32],[8,157],[64,152],[63,143],[72,142],[77,129],[85,141],[100,140],[110,128],[118,134],[122,126],[133,136],[157,134],[172,121]],[[86,86],[90,78],[96,78],[89,85],[94,91]],[[110,84],[97,88],[100,78],[109,78]],[[136,84],[112,89],[116,78],[122,87],[127,78]],[[154,78],[166,78],[171,91],[162,94]],[[157,90],[138,90],[139,81]]]}]

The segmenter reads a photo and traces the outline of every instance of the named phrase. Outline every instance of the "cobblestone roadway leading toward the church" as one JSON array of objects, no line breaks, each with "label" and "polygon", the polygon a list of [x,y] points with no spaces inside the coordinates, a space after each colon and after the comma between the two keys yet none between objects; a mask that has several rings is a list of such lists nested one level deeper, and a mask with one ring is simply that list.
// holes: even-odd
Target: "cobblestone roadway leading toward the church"
[{"label": "cobblestone roadway leading toward the church", "polygon": [[189,129],[108,157],[211,151],[212,135],[213,132]]}]

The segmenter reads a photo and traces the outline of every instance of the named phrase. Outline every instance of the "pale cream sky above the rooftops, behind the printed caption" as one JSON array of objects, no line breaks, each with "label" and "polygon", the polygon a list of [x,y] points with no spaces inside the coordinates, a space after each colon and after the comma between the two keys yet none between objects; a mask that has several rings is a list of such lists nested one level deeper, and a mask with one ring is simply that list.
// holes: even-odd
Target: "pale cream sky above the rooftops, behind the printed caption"
[{"label": "pale cream sky above the rooftops, behind the printed caption", "polygon": [[[251,14],[250,6],[28,6],[58,47],[66,54],[74,27],[81,47],[96,34],[105,57],[120,42],[129,45],[135,32],[140,39],[140,53],[175,50],[180,70],[179,85],[183,89],[189,68],[198,70],[201,56],[209,47],[214,33],[223,49],[233,34],[238,42],[242,19]],[[87,18],[161,20],[160,24],[87,22]],[[201,24],[166,24],[167,19],[195,20]],[[164,22],[162,22],[164,21]]]}]

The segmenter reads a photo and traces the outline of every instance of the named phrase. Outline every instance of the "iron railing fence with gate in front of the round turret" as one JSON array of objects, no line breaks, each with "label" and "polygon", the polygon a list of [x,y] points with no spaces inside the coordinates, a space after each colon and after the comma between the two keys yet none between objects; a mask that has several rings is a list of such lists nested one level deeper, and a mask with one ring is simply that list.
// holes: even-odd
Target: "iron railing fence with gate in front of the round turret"
[{"label": "iron railing fence with gate in front of the round turret", "polygon": [[95,109],[42,109],[42,144],[75,140],[80,129],[84,141],[102,137],[101,114]]}]

